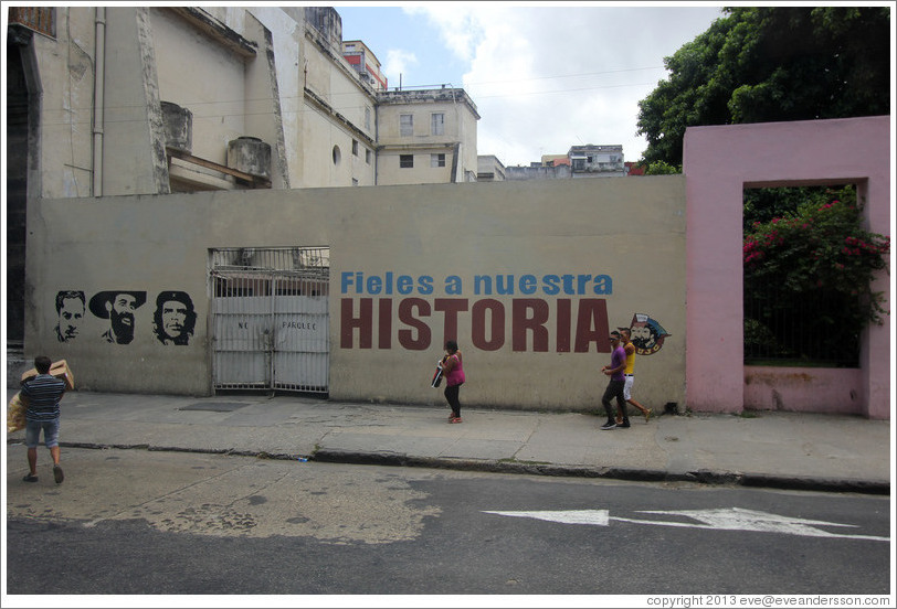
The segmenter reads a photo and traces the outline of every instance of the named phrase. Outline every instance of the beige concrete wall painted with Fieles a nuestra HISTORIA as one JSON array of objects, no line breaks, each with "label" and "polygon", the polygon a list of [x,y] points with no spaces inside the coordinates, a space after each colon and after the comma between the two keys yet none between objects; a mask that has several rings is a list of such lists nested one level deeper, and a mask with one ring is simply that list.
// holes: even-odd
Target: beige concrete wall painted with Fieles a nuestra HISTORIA
[{"label": "beige concrete wall painted with Fieles a nuestra HISTORIA", "polygon": [[[684,407],[682,177],[43,200],[29,229],[25,355],[66,359],[84,389],[208,395],[210,248],[327,245],[334,398],[441,403],[429,380],[456,339],[463,403],[594,408],[606,334],[635,324],[654,330],[636,398]],[[64,290],[138,292],[133,341],[87,307],[59,342]],[[192,299],[187,345],[154,336],[165,290]]]}]

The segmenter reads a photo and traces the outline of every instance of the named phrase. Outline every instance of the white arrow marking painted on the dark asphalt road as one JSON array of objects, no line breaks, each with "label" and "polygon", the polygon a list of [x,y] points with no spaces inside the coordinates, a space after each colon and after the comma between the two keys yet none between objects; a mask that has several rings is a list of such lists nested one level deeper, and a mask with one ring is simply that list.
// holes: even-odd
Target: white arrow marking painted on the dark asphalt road
[{"label": "white arrow marking painted on the dark asphalt road", "polygon": [[608,526],[610,521],[631,522],[634,524],[653,524],[657,526],[677,526],[683,528],[709,528],[716,531],[757,531],[762,533],[779,533],[782,535],[800,535],[804,537],[840,537],[847,539],[869,539],[888,542],[888,537],[875,535],[847,535],[830,533],[815,526],[846,526],[855,528],[853,524],[815,521],[806,519],[792,519],[766,512],[742,510],[740,507],[724,507],[718,510],[686,510],[686,511],[641,511],[642,514],[666,514],[685,516],[697,522],[678,522],[668,520],[639,520],[611,516],[608,510],[563,510],[563,511],[530,511],[530,512],[497,512],[485,511],[487,514],[500,516],[516,516],[536,519],[560,524],[591,524]]}]

